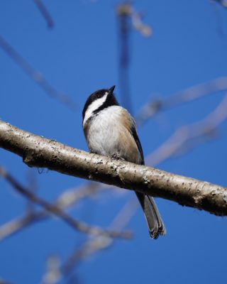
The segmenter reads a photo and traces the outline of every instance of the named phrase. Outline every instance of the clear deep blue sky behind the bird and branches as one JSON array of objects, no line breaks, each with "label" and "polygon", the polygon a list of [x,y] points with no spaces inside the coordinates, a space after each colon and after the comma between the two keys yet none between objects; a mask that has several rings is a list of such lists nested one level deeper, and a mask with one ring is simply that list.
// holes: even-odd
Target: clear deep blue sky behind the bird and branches
[{"label": "clear deep blue sky behind the bird and branches", "polygon": [[[44,0],[43,0],[44,1]],[[131,35],[130,88],[133,113],[151,98],[169,97],[187,87],[226,76],[227,11],[209,0],[134,1],[145,13],[153,35]],[[82,108],[89,94],[118,82],[118,1],[44,1],[55,26],[48,29],[33,1],[1,1],[0,35],[77,104],[70,111],[50,98],[0,49],[0,117],[26,131],[87,150]],[[222,31],[222,35],[218,30]],[[179,126],[207,116],[223,92],[162,112],[139,129],[145,155],[152,153]],[[200,180],[227,184],[226,126],[214,141],[194,148],[158,167]],[[52,201],[84,180],[28,169],[21,158],[0,149],[4,165],[24,185],[33,172],[38,194]],[[23,214],[26,201],[0,179],[0,224]],[[70,211],[78,219],[109,226],[133,195],[99,195]],[[128,224],[132,241],[116,241],[111,249],[88,258],[75,271],[82,283],[223,283],[226,279],[226,218],[157,200],[167,236],[148,236],[141,210]],[[13,283],[40,283],[51,253],[67,259],[82,235],[58,219],[34,224],[0,243],[0,276]],[[67,282],[64,282],[67,283]]]}]

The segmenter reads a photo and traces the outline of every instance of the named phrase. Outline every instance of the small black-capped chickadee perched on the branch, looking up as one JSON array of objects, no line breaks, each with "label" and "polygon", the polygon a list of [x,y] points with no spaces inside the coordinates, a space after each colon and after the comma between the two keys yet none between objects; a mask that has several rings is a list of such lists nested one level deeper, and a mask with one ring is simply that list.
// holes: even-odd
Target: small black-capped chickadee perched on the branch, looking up
[{"label": "small black-capped chickadee perched on the branch, looking up", "polygon": [[[84,104],[82,126],[91,153],[144,165],[143,148],[135,120],[118,104],[115,85],[93,92]],[[135,192],[148,223],[150,237],[166,234],[165,224],[153,197]]]}]

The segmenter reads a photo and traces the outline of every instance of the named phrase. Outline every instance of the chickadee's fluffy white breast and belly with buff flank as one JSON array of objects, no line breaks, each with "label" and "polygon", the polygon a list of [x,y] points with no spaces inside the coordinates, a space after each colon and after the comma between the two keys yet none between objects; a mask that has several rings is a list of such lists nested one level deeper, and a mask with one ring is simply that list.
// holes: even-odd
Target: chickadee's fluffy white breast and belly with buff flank
[{"label": "chickadee's fluffy white breast and belly with buff flank", "polygon": [[111,156],[118,154],[133,163],[141,162],[141,155],[135,140],[124,121],[133,119],[126,109],[112,106],[97,114],[89,124],[87,141],[92,152]]}]

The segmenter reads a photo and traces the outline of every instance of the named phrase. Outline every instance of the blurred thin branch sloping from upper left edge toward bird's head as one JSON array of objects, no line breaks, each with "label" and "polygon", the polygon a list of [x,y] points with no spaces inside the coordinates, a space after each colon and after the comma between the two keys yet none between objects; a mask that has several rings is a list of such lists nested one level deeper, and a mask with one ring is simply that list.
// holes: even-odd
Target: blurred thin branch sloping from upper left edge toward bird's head
[{"label": "blurred thin branch sloping from upper left edge toward bird's head", "polygon": [[28,61],[26,61],[3,37],[0,35],[0,47],[5,51],[9,57],[20,66],[26,74],[31,77],[50,97],[57,99],[62,104],[65,104],[69,109],[75,111],[76,104],[67,95],[58,92],[48,80],[45,79],[43,74],[35,70]]}]

